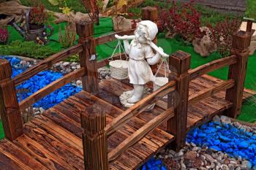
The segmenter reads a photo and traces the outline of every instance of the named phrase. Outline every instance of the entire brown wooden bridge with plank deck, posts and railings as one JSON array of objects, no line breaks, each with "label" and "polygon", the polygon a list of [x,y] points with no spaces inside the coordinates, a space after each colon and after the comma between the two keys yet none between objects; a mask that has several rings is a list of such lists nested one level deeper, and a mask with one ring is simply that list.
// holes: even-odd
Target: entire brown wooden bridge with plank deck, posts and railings
[{"label": "entire brown wooden bridge with plank deck, posts and railings", "polygon": [[[152,20],[152,10],[144,10],[148,12],[144,19]],[[251,34],[239,31],[233,36],[233,55],[196,69],[189,68],[188,53],[170,55],[170,81],[126,109],[118,96],[132,89],[128,80],[99,82],[97,69],[108,65],[108,58],[91,60],[95,47],[113,40],[114,34],[93,38],[93,26],[77,25],[78,45],[50,56],[14,79],[10,63],[0,60],[0,112],[6,136],[0,142],[1,169],[137,169],[167,145],[179,150],[187,132],[214,115],[236,117],[242,100],[255,95],[244,89]],[[18,104],[16,85],[76,53],[80,54],[80,69]],[[206,75],[225,66],[229,66],[227,81]],[[79,77],[83,82],[80,93],[23,124],[20,112]],[[146,111],[153,103],[154,109]]]}]

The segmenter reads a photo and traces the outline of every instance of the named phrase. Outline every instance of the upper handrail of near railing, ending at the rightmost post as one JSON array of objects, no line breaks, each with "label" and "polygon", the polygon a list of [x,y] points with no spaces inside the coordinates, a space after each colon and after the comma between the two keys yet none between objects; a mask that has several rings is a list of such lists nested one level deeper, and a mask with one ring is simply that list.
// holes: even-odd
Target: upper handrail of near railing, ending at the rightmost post
[{"label": "upper handrail of near railing, ending at the rightmost post", "polygon": [[208,72],[213,72],[214,70],[221,69],[225,66],[230,66],[237,62],[237,56],[231,55],[226,58],[220,58],[215,61],[211,61],[209,63],[203,64],[202,66],[198,66],[195,69],[189,70],[189,80],[195,80],[197,77],[202,76],[203,74],[207,74]]}]

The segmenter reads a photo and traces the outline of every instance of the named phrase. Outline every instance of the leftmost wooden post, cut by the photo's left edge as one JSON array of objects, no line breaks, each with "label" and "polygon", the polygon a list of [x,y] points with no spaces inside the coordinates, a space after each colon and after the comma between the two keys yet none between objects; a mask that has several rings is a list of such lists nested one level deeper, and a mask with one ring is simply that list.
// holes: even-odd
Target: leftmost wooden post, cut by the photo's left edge
[{"label": "leftmost wooden post, cut by the photo's left edge", "polygon": [[11,79],[12,67],[9,61],[0,59],[0,115],[7,139],[13,141],[23,134],[15,83]]}]

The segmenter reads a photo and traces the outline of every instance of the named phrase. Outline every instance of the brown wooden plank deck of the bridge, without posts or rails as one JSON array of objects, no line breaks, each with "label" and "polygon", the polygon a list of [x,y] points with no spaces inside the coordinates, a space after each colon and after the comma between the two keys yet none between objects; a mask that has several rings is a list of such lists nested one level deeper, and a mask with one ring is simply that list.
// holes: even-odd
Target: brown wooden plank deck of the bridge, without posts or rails
[{"label": "brown wooden plank deck of the bridge, without posts or rails", "polygon": [[[200,90],[216,85],[222,80],[203,75],[190,82],[189,96]],[[80,111],[92,104],[104,109],[107,123],[125,110],[118,96],[132,87],[128,81],[113,79],[99,83],[100,91],[92,96],[85,91],[67,98],[65,101],[48,109],[42,115],[34,117],[24,125],[24,134],[13,143],[4,139],[0,142],[1,169],[83,169],[82,128]],[[151,84],[148,84],[151,87]],[[244,90],[244,99],[255,94]],[[221,114],[232,103],[225,101],[225,92],[189,106],[187,131],[200,125],[214,115]],[[152,111],[143,112],[130,120],[120,130],[108,138],[108,152],[117,147],[127,136],[133,134],[153,117],[167,107],[165,100],[159,101]],[[137,144],[129,147],[115,161],[109,163],[109,169],[137,169],[162,147],[173,141],[174,137],[166,133],[165,124],[149,133]]]}]

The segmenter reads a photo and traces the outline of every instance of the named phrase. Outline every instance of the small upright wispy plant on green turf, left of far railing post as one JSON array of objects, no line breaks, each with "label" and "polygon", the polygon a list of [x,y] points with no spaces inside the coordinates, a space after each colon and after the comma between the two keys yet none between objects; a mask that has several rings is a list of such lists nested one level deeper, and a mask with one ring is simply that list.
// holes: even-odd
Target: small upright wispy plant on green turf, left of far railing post
[{"label": "small upright wispy plant on green turf, left of far railing post", "polygon": [[61,31],[61,27],[59,27],[59,43],[62,47],[67,48],[75,45],[76,40],[76,31],[75,25],[73,23],[67,23],[64,31]]}]

